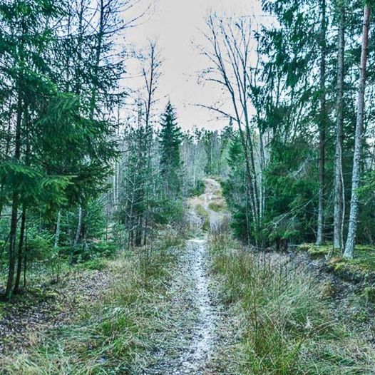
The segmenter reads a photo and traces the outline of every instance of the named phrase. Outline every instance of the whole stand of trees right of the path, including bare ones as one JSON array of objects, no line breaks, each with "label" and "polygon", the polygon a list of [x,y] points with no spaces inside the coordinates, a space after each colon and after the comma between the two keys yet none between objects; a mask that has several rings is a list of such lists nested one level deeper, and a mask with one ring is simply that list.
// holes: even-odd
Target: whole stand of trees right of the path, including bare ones
[{"label": "whole stand of trees right of the path, including bare ones", "polygon": [[374,242],[373,6],[264,0],[262,24],[208,16],[205,80],[225,105],[199,105],[238,129],[225,191],[247,242],[332,241],[348,258]]}]

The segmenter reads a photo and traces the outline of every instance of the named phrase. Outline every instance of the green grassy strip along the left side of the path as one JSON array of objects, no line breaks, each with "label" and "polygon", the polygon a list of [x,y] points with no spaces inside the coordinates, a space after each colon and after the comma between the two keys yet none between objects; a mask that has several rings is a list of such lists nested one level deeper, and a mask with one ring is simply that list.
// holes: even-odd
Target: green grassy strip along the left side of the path
[{"label": "green grassy strip along the left side of the path", "polygon": [[137,253],[108,262],[113,286],[103,299],[82,311],[76,324],[47,332],[26,353],[4,359],[1,374],[140,374],[153,361],[144,354],[157,351],[168,332],[165,292],[182,245],[178,233],[156,242],[147,277]]}]

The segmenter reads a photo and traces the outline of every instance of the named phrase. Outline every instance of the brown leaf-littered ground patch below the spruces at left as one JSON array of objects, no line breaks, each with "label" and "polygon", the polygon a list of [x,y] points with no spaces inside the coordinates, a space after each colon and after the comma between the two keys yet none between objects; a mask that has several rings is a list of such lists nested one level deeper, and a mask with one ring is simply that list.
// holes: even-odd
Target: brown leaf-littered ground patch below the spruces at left
[{"label": "brown leaf-littered ground patch below the spruces at left", "polygon": [[74,322],[112,283],[108,269],[77,269],[58,284],[46,283],[0,305],[0,358],[23,351],[43,331]]}]

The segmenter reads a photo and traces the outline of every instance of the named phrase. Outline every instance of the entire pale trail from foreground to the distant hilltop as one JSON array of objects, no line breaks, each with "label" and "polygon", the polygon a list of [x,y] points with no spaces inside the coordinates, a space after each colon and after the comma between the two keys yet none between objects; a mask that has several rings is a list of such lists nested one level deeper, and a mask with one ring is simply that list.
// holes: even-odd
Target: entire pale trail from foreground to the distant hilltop
[{"label": "entire pale trail from foreground to the distant hilltop", "polygon": [[207,178],[205,192],[188,201],[187,222],[197,235],[187,240],[171,286],[179,310],[175,340],[165,345],[159,363],[144,374],[216,374],[212,356],[221,344],[217,327],[222,309],[209,274],[207,232],[202,228],[209,222],[212,230],[228,214],[215,212],[210,208],[212,204],[223,207],[224,200],[220,183]]}]

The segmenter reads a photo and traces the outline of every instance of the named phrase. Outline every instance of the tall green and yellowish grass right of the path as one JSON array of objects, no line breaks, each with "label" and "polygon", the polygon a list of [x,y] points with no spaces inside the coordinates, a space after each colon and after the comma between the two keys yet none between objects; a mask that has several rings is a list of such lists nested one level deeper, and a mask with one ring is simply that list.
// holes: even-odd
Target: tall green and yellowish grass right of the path
[{"label": "tall green and yellowish grass right of the path", "polygon": [[311,272],[223,232],[209,243],[223,300],[240,319],[233,374],[375,373],[374,350],[334,319]]}]

